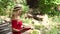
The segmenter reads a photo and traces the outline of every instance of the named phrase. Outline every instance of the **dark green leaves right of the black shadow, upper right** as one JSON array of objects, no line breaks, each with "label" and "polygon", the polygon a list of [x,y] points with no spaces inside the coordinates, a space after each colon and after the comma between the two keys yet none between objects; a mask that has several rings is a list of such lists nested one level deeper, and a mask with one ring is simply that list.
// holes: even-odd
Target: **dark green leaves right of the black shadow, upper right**
[{"label": "dark green leaves right of the black shadow, upper right", "polygon": [[59,15],[60,13],[55,10],[55,7],[60,4],[60,0],[39,0],[39,11],[43,14],[51,16]]}]

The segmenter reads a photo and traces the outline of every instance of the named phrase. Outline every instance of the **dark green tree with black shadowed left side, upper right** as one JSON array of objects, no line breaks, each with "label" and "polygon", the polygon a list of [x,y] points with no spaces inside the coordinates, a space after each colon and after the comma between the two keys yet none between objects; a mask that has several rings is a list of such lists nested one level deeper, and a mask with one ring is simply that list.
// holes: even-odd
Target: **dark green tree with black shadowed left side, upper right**
[{"label": "dark green tree with black shadowed left side, upper right", "polygon": [[[48,14],[51,16],[59,15],[55,7],[60,4],[60,0],[27,0],[27,4],[33,9],[33,13],[38,14],[38,12],[40,12],[40,14]],[[35,5],[37,5],[36,7],[38,8],[36,8]]]}]

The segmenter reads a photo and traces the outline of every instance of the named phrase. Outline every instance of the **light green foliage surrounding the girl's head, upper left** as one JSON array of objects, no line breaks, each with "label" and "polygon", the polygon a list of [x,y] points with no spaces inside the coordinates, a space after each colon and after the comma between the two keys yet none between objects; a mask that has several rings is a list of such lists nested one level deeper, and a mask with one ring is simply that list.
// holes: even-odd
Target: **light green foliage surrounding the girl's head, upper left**
[{"label": "light green foliage surrounding the girl's head, upper left", "polygon": [[[26,0],[16,0],[17,3],[22,4],[22,14],[25,14],[29,8],[26,5]],[[9,15],[13,7],[17,4],[13,0],[0,0],[0,15]]]}]

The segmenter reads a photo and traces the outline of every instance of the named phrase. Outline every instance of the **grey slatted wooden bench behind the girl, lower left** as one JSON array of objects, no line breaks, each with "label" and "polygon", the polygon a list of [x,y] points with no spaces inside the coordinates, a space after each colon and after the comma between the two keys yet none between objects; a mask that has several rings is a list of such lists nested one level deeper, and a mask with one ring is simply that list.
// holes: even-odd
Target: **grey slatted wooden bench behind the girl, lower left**
[{"label": "grey slatted wooden bench behind the girl, lower left", "polygon": [[0,24],[0,34],[12,34],[9,23]]}]

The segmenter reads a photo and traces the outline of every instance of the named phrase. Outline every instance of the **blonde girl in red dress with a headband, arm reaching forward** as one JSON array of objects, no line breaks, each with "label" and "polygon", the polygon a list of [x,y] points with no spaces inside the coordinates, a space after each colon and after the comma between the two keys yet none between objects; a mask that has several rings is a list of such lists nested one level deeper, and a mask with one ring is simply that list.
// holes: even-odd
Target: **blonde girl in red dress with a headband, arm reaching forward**
[{"label": "blonde girl in red dress with a headband, arm reaching forward", "polygon": [[12,23],[12,33],[13,34],[21,34],[30,28],[22,28],[22,21],[20,20],[20,15],[22,13],[21,6],[15,6],[13,9],[11,23]]}]

